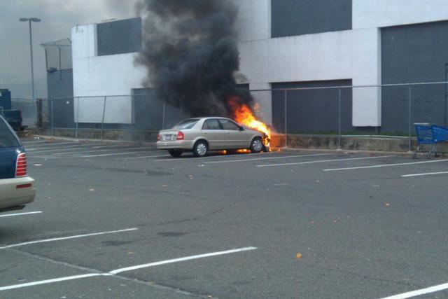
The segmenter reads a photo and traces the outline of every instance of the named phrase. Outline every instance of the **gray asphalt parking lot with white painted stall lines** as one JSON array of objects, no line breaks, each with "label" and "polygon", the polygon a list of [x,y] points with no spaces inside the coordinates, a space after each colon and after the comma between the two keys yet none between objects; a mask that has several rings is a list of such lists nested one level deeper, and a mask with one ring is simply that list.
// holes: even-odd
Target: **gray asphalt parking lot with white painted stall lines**
[{"label": "gray asphalt parking lot with white painted stall lines", "polygon": [[22,141],[0,298],[448,298],[448,159]]}]

